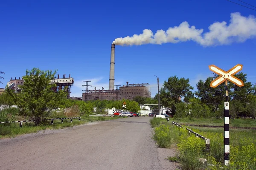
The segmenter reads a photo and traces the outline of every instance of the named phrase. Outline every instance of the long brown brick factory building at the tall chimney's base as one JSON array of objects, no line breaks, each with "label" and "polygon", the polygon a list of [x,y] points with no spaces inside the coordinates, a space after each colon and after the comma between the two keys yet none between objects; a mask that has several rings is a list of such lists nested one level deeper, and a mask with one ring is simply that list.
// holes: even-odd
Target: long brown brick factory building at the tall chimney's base
[{"label": "long brown brick factory building at the tall chimney's base", "polygon": [[[148,91],[146,84],[128,84],[123,85],[119,90],[88,90],[88,93],[83,93],[83,101],[87,100],[121,100],[130,99],[132,100],[135,96],[151,97],[151,92]],[[86,99],[87,97],[87,99]]]}]

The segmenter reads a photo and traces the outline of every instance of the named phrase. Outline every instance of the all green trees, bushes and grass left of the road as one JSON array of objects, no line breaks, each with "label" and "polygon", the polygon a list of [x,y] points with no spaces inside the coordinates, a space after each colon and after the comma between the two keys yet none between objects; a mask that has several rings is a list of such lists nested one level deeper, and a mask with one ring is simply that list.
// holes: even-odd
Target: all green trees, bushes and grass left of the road
[{"label": "all green trees, bushes and grass left of the road", "polygon": [[[42,71],[38,68],[27,70],[23,77],[24,84],[19,85],[19,88],[22,89],[20,93],[14,93],[7,87],[0,95],[0,122],[35,120],[34,122],[23,122],[22,128],[19,127],[19,123],[0,124],[0,138],[119,118],[89,116],[93,114],[94,107],[97,108],[96,113],[105,114],[106,108],[121,108],[122,102],[126,101],[127,109],[131,111],[140,109],[137,102],[129,100],[84,102],[68,99],[67,89],[54,92],[56,84],[52,83],[52,80],[55,73],[56,71]],[[3,77],[0,78],[3,79]],[[53,125],[50,125],[51,121],[45,120],[67,117],[81,117],[81,121],[73,119],[73,123],[71,123],[70,119],[64,119],[64,123],[61,124],[61,120],[54,120]]]}]

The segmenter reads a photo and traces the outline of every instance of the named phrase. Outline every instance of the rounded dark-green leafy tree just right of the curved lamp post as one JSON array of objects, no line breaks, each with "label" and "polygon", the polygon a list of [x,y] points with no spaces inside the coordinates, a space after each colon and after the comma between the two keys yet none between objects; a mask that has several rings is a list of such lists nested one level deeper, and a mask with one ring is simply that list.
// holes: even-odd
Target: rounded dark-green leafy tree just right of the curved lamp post
[{"label": "rounded dark-green leafy tree just right of the curved lamp post", "polygon": [[160,89],[160,104],[170,108],[175,114],[175,104],[181,102],[181,98],[188,100],[192,96],[194,88],[189,84],[189,79],[178,78],[177,76],[169,77],[168,81],[163,83]]}]

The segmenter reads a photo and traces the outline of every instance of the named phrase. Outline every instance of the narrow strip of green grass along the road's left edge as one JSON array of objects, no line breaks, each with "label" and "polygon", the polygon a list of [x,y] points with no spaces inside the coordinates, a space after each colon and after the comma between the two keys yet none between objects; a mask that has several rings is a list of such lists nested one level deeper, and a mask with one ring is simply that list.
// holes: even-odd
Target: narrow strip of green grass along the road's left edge
[{"label": "narrow strip of green grass along the road's left edge", "polygon": [[34,133],[40,130],[47,129],[63,129],[65,127],[73,127],[76,125],[82,125],[87,122],[95,122],[95,121],[105,121],[110,119],[119,119],[119,117],[103,117],[103,116],[81,116],[81,120],[73,119],[73,122],[70,122],[70,119],[64,119],[63,124],[61,120],[54,120],[53,125],[51,125],[51,121],[48,121],[44,125],[35,126],[33,122],[23,122],[22,127],[19,126],[19,123],[9,123],[9,124],[1,124],[0,125],[0,139],[3,138],[13,138],[18,135],[26,134],[26,133]]}]

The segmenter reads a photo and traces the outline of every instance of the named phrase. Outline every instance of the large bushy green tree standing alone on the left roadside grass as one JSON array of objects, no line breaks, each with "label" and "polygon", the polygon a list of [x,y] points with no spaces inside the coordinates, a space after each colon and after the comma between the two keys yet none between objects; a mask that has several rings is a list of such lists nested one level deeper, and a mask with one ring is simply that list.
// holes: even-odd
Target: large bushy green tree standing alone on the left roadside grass
[{"label": "large bushy green tree standing alone on the left roadside grass", "polygon": [[20,85],[18,108],[24,116],[35,120],[35,125],[39,125],[42,119],[47,119],[51,115],[52,109],[61,105],[67,94],[64,91],[57,93],[52,91],[56,87],[51,83],[56,72],[41,71],[39,68],[26,70],[23,77],[24,84]]}]

